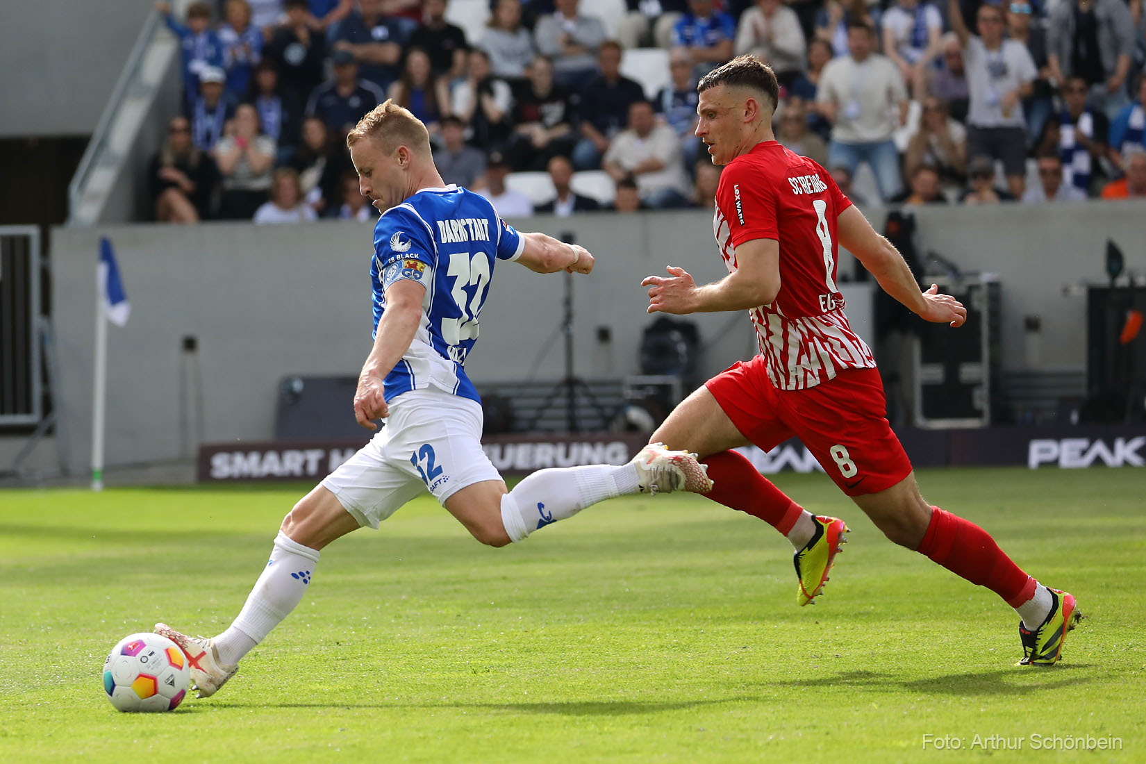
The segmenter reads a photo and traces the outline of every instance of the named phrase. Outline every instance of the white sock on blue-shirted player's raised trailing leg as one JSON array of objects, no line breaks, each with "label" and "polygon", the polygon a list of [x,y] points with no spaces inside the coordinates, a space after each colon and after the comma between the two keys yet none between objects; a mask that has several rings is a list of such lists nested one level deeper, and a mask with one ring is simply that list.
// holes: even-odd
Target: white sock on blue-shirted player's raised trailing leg
[{"label": "white sock on blue-shirted player's raised trailing leg", "polygon": [[502,496],[502,523],[518,542],[597,502],[639,490],[634,464],[540,470]]}]

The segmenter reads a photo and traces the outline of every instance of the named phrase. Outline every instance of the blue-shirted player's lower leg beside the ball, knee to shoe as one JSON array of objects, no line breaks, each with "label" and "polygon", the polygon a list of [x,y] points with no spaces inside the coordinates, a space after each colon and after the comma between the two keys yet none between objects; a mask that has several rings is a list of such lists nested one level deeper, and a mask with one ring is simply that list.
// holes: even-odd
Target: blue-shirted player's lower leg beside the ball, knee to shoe
[{"label": "blue-shirted player's lower leg beside the ball, knee to shoe", "polygon": [[182,648],[199,698],[213,695],[238,670],[238,661],[301,601],[327,544],[359,528],[327,488],[316,486],[283,519],[262,574],[238,617],[222,633],[189,637],[165,623],[155,630]]}]

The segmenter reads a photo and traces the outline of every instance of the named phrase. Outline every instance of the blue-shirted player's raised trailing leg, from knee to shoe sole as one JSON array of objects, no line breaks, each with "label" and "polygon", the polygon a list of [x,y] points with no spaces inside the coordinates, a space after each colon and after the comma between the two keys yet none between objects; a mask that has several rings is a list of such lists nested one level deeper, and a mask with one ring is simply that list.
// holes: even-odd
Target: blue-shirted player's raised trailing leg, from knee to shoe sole
[{"label": "blue-shirted player's raised trailing leg, from knee to shoe sole", "polygon": [[511,491],[501,480],[477,482],[453,494],[445,506],[482,544],[504,546],[609,498],[641,491],[705,493],[712,485],[694,455],[653,444],[620,466],[539,470]]}]

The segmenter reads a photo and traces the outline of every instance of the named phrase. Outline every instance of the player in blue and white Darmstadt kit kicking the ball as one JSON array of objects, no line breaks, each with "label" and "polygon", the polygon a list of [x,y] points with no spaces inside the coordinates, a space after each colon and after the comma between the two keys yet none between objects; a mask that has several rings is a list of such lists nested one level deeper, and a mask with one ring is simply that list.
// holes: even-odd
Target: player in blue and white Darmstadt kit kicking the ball
[{"label": "player in blue and white Darmstadt kit kicking the ball", "polygon": [[694,455],[653,443],[622,466],[542,470],[507,490],[481,449],[480,399],[464,368],[494,268],[516,261],[540,274],[588,274],[594,258],[544,234],[519,234],[484,197],[446,186],[425,126],[392,101],[367,113],[346,143],[362,195],[382,212],[370,262],[374,347],[354,415],[370,430],[379,418],[386,426],[290,511],[226,631],[188,637],[156,624],[187,653],[199,698],[234,676],[298,605],[320,550],[362,526],[377,528],[424,491],[474,538],[504,546],[606,498],[712,487]]}]

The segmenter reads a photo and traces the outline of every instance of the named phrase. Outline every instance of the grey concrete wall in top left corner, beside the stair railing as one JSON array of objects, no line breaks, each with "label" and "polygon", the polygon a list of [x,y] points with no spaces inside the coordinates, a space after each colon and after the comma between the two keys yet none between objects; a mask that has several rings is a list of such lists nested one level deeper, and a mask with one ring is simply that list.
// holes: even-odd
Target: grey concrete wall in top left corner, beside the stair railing
[{"label": "grey concrete wall in top left corner, beside the stair railing", "polygon": [[95,129],[154,0],[3,0],[0,136]]}]

